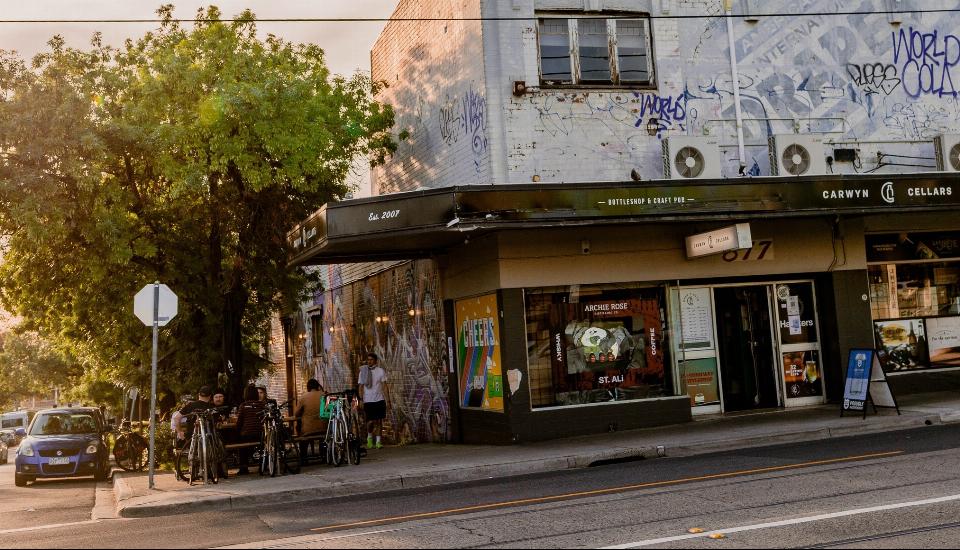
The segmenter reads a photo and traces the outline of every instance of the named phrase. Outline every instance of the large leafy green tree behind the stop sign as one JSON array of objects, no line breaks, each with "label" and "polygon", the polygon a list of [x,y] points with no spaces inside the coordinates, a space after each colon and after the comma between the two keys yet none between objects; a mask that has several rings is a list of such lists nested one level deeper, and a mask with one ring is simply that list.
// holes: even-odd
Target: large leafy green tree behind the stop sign
[{"label": "large leafy green tree behind the stop sign", "polygon": [[118,385],[145,382],[150,334],[132,297],[180,298],[161,382],[261,366],[271,312],[310,288],[287,232],[349,191],[351,162],[395,149],[368,78],[331,76],[323,51],[259,39],[249,11],[211,7],[185,29],[172,6],[121,49],[54,37],[30,66],[0,54],[0,303]]}]

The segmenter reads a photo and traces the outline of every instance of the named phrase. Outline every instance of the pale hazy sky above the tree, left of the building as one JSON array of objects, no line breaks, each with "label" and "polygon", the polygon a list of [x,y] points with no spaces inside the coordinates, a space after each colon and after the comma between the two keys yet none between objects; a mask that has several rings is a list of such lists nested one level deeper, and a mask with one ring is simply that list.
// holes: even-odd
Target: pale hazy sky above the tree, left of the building
[{"label": "pale hazy sky above the tree, left of the building", "polygon": [[[199,7],[216,5],[225,17],[249,8],[259,19],[285,17],[387,18],[397,0],[0,0],[0,20],[37,19],[151,19],[162,4],[172,3],[175,16],[192,19]],[[370,49],[384,27],[383,22],[362,23],[258,23],[261,35],[273,33],[290,42],[311,42],[327,54],[327,66],[336,74],[370,71]],[[157,27],[156,23],[0,23],[0,49],[16,50],[30,58],[46,49],[55,34],[68,46],[85,49],[93,33],[103,41],[122,46]],[[349,182],[358,187],[357,196],[370,193],[369,171],[359,162]]]}]

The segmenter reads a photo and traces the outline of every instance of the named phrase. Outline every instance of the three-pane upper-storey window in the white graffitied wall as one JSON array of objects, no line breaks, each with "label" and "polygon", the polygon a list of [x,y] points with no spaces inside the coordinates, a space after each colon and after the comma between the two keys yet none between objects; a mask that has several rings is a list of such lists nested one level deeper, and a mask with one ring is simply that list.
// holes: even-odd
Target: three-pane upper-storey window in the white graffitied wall
[{"label": "three-pane upper-storey window in the white graffitied wall", "polygon": [[653,80],[646,18],[542,17],[543,86],[649,86]]}]

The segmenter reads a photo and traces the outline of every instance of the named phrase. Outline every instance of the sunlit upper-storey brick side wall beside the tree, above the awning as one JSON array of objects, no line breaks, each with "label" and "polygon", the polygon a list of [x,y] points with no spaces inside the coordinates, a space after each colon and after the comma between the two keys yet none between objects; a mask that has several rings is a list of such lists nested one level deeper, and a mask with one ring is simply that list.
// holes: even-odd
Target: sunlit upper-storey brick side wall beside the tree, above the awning
[{"label": "sunlit upper-storey brick side wall beside the tree, above the awning", "polygon": [[[490,180],[480,0],[401,0],[371,55],[379,97],[395,106],[410,138],[372,174],[373,193]],[[462,19],[474,19],[463,21]]]}]

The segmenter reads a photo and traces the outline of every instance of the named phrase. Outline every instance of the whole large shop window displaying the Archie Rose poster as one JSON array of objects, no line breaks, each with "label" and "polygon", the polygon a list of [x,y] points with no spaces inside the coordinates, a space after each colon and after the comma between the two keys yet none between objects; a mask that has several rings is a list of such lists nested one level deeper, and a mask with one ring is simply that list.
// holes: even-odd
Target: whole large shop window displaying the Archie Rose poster
[{"label": "whole large shop window displaying the Archie Rose poster", "polygon": [[534,408],[674,395],[659,288],[526,292]]}]

